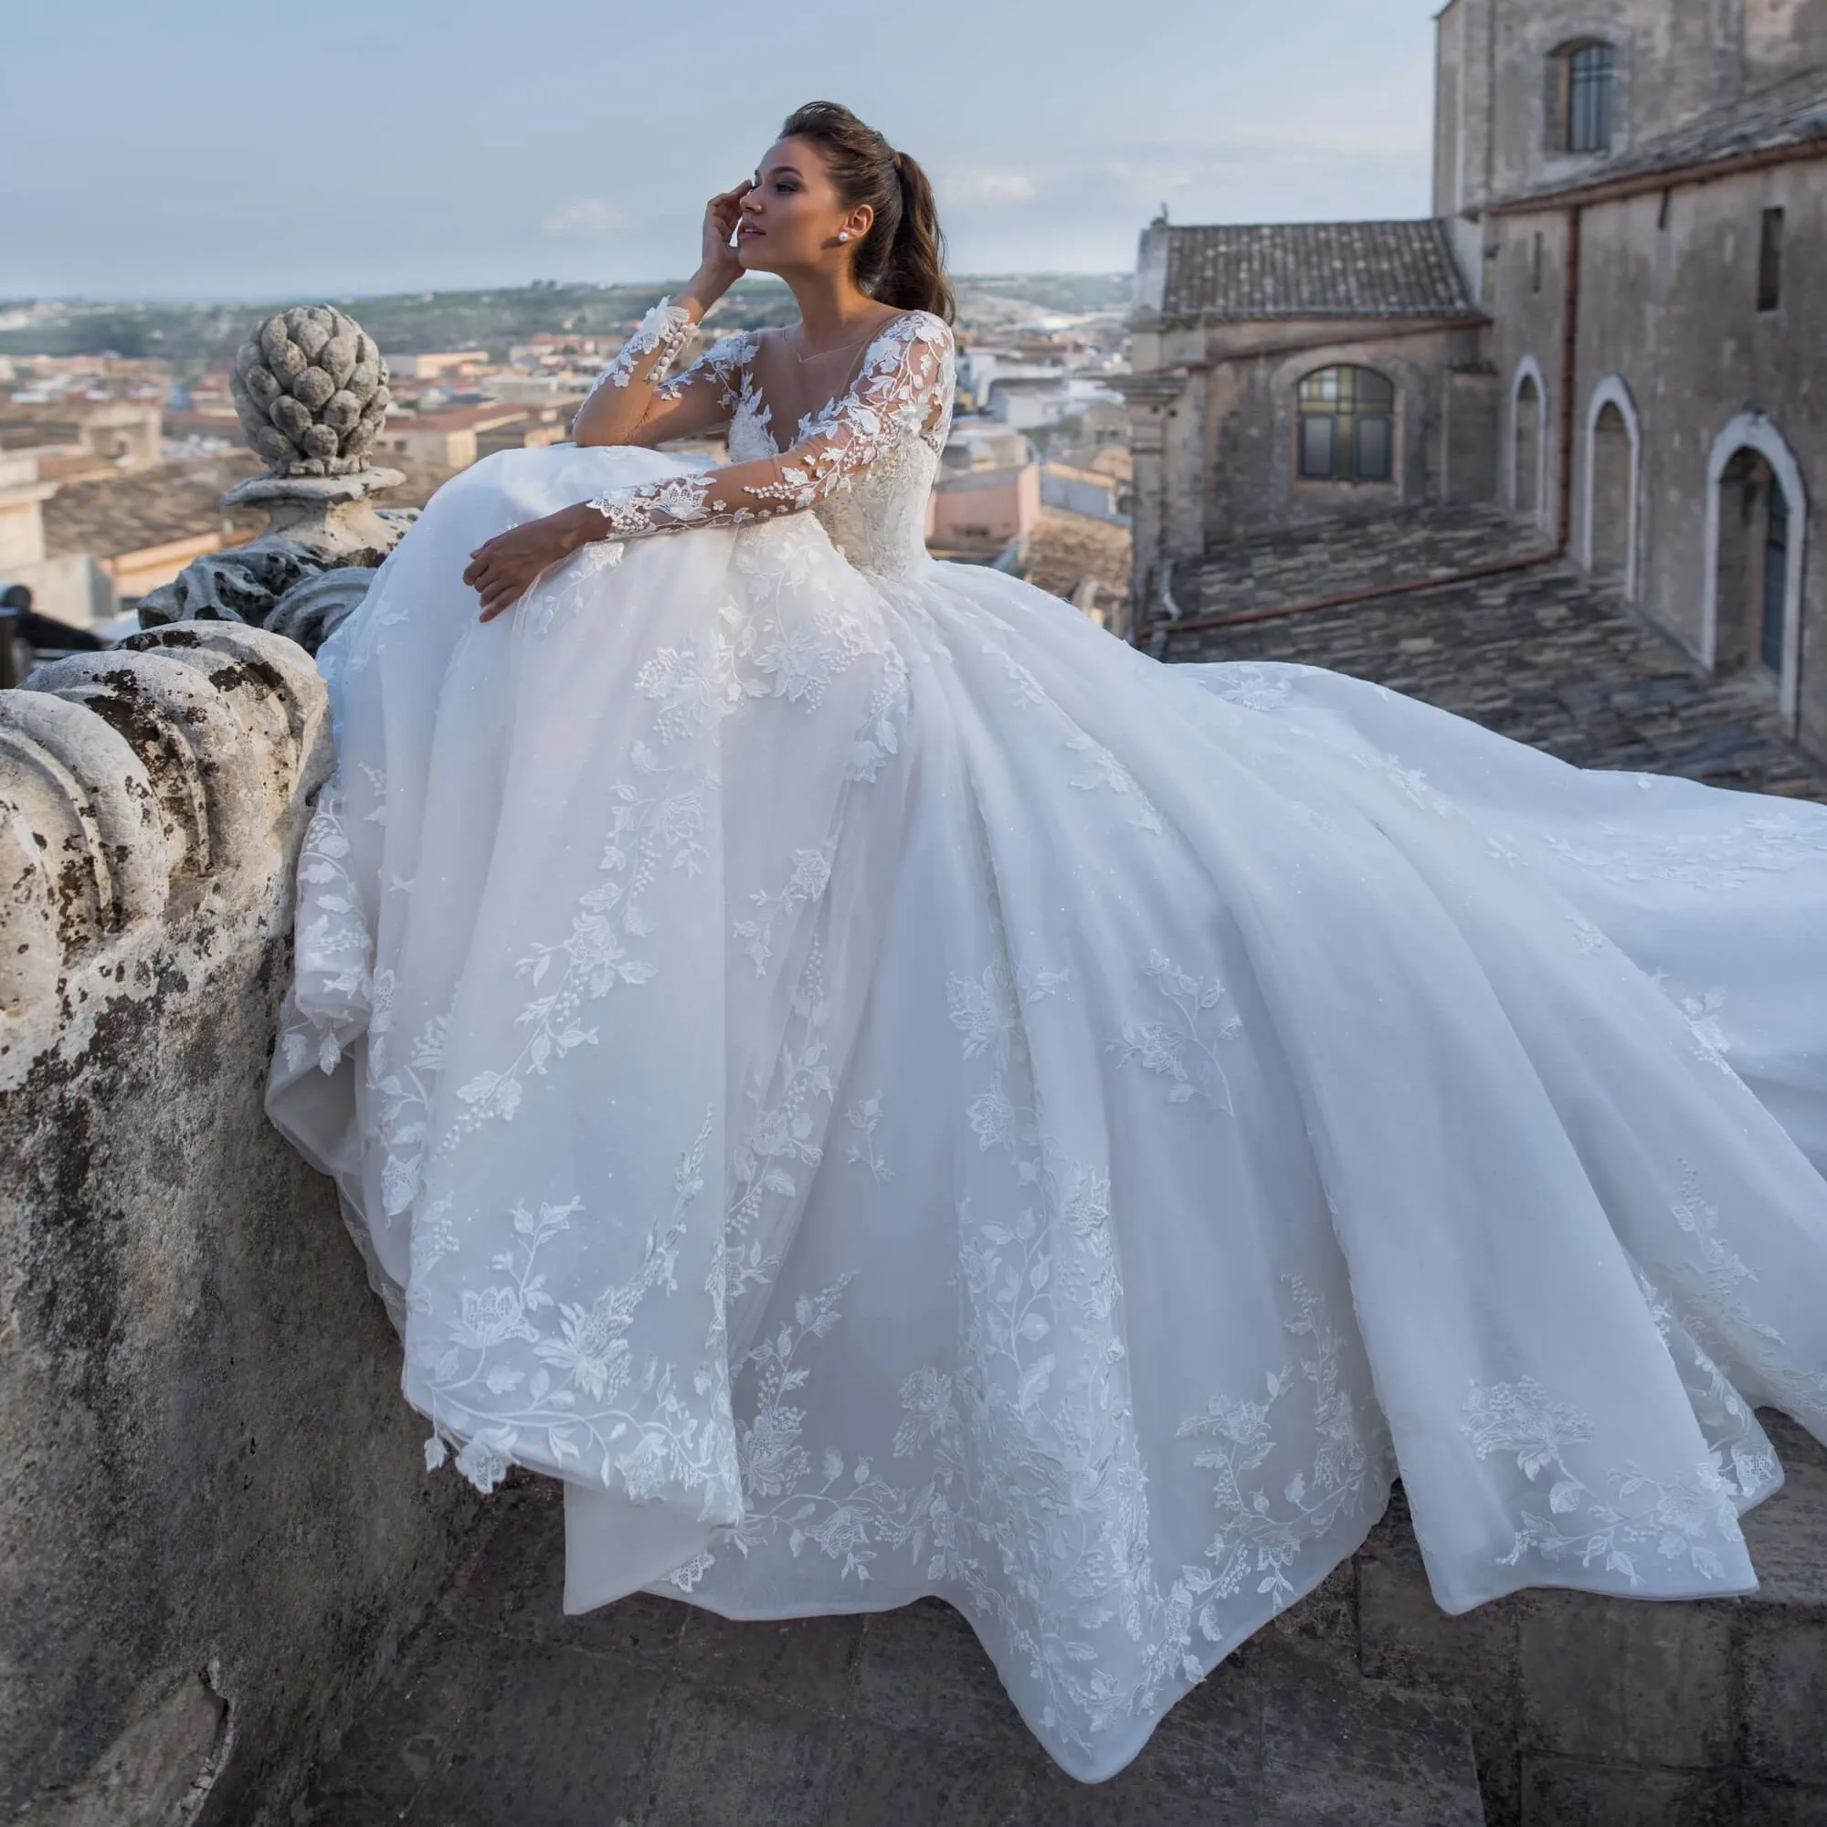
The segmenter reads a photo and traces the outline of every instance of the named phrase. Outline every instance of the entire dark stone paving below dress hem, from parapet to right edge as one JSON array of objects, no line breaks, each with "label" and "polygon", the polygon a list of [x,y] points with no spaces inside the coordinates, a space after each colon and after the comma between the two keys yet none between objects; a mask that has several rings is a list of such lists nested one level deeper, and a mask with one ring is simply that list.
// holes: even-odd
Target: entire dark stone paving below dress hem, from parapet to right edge
[{"label": "entire dark stone paving below dress hem, from parapet to right edge", "polygon": [[937,1600],[565,1617],[559,1494],[524,1480],[296,1823],[1827,1823],[1827,1452],[1761,1420],[1787,1482],[1745,1518],[1758,1593],[1529,1589],[1447,1617],[1398,1491],[1098,1785],[1040,1750]]}]

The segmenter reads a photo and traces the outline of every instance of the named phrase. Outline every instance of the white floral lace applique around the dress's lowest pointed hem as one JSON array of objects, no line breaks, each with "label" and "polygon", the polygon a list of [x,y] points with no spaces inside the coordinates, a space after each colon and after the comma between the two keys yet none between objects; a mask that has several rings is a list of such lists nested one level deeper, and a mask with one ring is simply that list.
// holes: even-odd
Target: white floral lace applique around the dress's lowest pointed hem
[{"label": "white floral lace applique around the dress's lowest pointed hem", "polygon": [[[1113,1723],[1158,1710],[1166,1683],[1178,1688],[1204,1677],[1193,1633],[1208,1644],[1231,1639],[1226,1599],[1250,1586],[1277,1611],[1290,1604],[1303,1551],[1365,1513],[1387,1489],[1392,1460],[1381,1421],[1361,1418],[1345,1387],[1343,1337],[1325,1301],[1299,1277],[1284,1277],[1294,1301],[1284,1326],[1312,1343],[1301,1378],[1312,1390],[1314,1458],[1281,1478],[1279,1494],[1251,1482],[1277,1451],[1272,1410],[1299,1385],[1288,1367],[1264,1376],[1264,1399],[1213,1396],[1204,1414],[1186,1420],[1178,1438],[1211,1442],[1193,1463],[1219,1474],[1211,1493],[1219,1526],[1204,1551],[1209,1564],[1180,1568],[1164,1591],[1147,1560],[1140,1478],[1125,1476],[1127,1460],[1107,1456],[1105,1429],[1056,1436],[1041,1401],[1061,1368],[1051,1348],[1056,1325],[1076,1308],[1102,1332],[1122,1299],[1109,1182],[1072,1169],[1065,1191],[1061,1233],[1051,1235],[1032,1208],[970,1233],[968,1286],[977,1301],[988,1295],[985,1317],[994,1314],[994,1325],[968,1343],[1012,1359],[1007,1387],[999,1374],[983,1379],[981,1359],[961,1374],[910,1372],[899,1389],[899,1425],[882,1443],[886,1458],[881,1447],[850,1458],[804,1438],[800,1392],[817,1370],[811,1348],[840,1323],[839,1303],[855,1273],[798,1295],[791,1321],[760,1339],[742,1367],[753,1379],[753,1405],[736,1421],[744,1516],[667,1579],[691,1591],[720,1549],[744,1558],[786,1549],[795,1558],[822,1553],[839,1562],[839,1579],[862,1586],[882,1553],[904,1553],[926,1580],[959,1588],[972,1617],[998,1626],[1029,1657],[1047,1694],[1045,1723],[1089,1748]],[[1129,1421],[1124,1410],[1105,1427]],[[897,1465],[924,1471],[897,1480]],[[1061,1507],[1060,1493],[1076,1493],[1078,1507]],[[1030,1542],[1036,1527],[1041,1540]],[[1049,1579],[1038,1577],[1040,1568],[1030,1579],[1005,1566],[1018,1544],[1023,1558],[1047,1562]],[[1111,1659],[1100,1666],[1091,1639],[1105,1630],[1133,1646],[1120,1659],[1127,1675],[1114,1674]]]}]

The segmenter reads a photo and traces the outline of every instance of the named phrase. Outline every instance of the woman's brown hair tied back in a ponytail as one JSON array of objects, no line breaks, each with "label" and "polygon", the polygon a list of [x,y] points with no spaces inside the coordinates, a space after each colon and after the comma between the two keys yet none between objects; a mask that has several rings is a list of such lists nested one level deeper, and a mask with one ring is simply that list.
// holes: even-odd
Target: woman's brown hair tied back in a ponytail
[{"label": "woman's brown hair tied back in a ponytail", "polygon": [[857,285],[884,305],[932,311],[952,322],[956,300],[945,276],[945,236],[926,174],[871,126],[837,102],[806,102],[780,128],[811,141],[846,206],[868,203],[875,221],[857,248]]}]

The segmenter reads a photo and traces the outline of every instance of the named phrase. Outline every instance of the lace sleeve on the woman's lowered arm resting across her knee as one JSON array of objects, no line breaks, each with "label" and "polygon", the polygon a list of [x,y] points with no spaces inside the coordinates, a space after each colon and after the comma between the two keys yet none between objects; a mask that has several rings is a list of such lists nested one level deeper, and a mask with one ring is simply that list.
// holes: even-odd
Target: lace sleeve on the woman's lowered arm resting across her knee
[{"label": "lace sleeve on the woman's lowered arm resting across her knee", "polygon": [[791,449],[599,495],[588,502],[607,523],[599,537],[639,539],[804,513],[901,438],[943,438],[952,375],[945,320],[930,311],[895,318],[870,343],[850,391],[806,420]]}]

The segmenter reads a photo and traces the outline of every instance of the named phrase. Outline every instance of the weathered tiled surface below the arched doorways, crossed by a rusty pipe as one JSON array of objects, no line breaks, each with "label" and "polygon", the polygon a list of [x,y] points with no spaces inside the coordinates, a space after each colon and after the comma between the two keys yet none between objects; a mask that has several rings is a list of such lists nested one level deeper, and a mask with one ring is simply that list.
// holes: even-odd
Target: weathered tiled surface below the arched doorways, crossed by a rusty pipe
[{"label": "weathered tiled surface below the arched doorways, crossed by a rusty pipe", "polygon": [[[1266,539],[1208,561],[1200,610],[1310,601],[1367,581],[1498,563],[1538,544],[1489,510],[1326,541]],[[1480,541],[1484,541],[1480,544]],[[1615,586],[1546,565],[1420,596],[1169,634],[1162,658],[1299,660],[1425,698],[1580,767],[1641,767],[1827,800],[1827,767],[1781,733],[1769,683],[1712,680]]]}]

